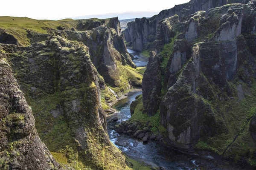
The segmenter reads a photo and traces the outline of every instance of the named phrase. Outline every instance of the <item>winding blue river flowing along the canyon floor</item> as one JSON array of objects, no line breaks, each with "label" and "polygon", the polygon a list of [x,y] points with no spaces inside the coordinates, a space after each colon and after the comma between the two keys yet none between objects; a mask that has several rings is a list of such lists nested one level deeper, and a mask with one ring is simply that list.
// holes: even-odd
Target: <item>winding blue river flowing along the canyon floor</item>
[{"label": "winding blue river flowing along the canyon floor", "polygon": [[[143,67],[147,64],[147,57],[130,49],[128,49],[128,52],[134,55],[133,61],[138,67]],[[164,167],[166,170],[200,170],[200,167],[203,167],[206,170],[242,169],[238,165],[221,159],[220,156],[215,156],[215,159],[213,159],[212,156],[184,154],[167,147],[162,142],[150,141],[143,143],[125,133],[119,134],[110,129],[111,126],[114,127],[121,121],[128,120],[131,117],[131,102],[140,94],[142,94],[142,91],[141,89],[138,89],[134,93],[129,93],[127,98],[120,100],[112,106],[112,108],[119,111],[114,115],[119,119],[117,122],[111,122],[111,116],[107,119],[110,140],[116,147],[122,150],[122,152],[136,160],[144,161],[148,165],[153,167]]]}]

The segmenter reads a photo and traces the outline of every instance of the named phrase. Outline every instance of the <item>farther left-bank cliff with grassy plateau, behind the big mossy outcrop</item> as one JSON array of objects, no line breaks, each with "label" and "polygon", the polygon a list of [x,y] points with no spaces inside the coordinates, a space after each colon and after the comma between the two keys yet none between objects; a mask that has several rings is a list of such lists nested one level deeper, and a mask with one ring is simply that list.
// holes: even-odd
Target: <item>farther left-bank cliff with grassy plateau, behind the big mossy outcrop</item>
[{"label": "farther left-bank cliff with grassy plateau, behind the big mossy outcrop", "polygon": [[[132,85],[141,87],[142,76],[133,71],[136,65],[126,49],[117,17],[59,21],[33,20],[26,17],[16,17],[13,21],[12,17],[0,17],[0,22],[5,26],[0,28],[0,43],[26,46],[48,40],[52,35],[83,42],[89,48],[93,65],[114,91],[113,93],[108,88],[102,91],[104,109],[108,109],[109,105],[117,101],[116,96],[129,91]],[[15,22],[16,28],[10,26],[9,22]],[[31,24],[33,28],[27,30],[23,26],[24,22]]]}]

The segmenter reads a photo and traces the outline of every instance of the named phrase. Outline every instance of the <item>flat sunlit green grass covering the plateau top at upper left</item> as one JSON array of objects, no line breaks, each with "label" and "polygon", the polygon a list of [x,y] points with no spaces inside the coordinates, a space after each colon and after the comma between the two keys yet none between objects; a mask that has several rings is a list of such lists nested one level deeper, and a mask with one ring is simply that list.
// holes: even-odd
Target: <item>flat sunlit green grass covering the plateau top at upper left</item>
[{"label": "flat sunlit green grass covering the plateau top at upper left", "polygon": [[57,29],[58,26],[62,26],[65,29],[79,29],[79,31],[85,31],[90,28],[90,24],[93,21],[99,21],[102,24],[111,27],[113,19],[97,19],[91,18],[82,20],[83,28],[79,29],[79,21],[81,20],[73,20],[73,19],[64,19],[64,20],[34,20],[27,17],[8,17],[3,16],[0,17],[0,29],[3,31],[12,34],[19,42],[20,45],[27,46],[30,45],[30,40],[27,37],[28,32],[32,31],[40,34],[52,34],[51,29]]}]

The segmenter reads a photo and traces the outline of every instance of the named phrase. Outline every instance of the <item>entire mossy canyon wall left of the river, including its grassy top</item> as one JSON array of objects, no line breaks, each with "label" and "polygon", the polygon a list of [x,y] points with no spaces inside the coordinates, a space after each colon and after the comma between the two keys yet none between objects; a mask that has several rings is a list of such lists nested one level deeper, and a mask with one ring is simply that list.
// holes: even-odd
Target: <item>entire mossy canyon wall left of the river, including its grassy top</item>
[{"label": "entire mossy canyon wall left of the river, including its grassy top", "polygon": [[[0,18],[2,23],[5,19]],[[41,169],[129,169],[121,151],[109,140],[104,111],[132,85],[141,86],[142,80],[133,71],[136,66],[120,36],[118,19],[39,21],[47,28],[37,26],[37,20],[15,20],[20,27],[1,27],[0,50],[32,108],[35,127],[31,133],[36,136],[36,128],[46,145],[36,136],[35,147],[45,150],[41,155],[46,158],[35,154],[31,161],[42,161],[45,168]],[[23,28],[23,22],[36,29]],[[17,35],[24,30],[26,34]],[[6,36],[13,41],[6,41]],[[31,109],[29,113],[32,115]],[[14,128],[20,126],[20,120],[15,121],[11,122]],[[8,152],[20,147],[12,145],[10,150],[11,139],[4,144]],[[11,164],[15,159],[6,160],[2,162]]]}]

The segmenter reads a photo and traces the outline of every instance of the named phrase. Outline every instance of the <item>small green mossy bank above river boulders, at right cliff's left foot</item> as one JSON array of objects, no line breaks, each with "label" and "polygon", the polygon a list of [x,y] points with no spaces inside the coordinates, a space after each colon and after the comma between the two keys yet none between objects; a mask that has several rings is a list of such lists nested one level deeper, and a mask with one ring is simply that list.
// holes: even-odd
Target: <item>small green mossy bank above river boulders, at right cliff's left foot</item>
[{"label": "small green mossy bank above river boulders, at right cliff's left foot", "polygon": [[149,117],[146,113],[143,113],[143,101],[142,101],[142,94],[137,98],[138,104],[134,109],[134,114],[131,116],[129,121],[131,122],[141,122],[146,123],[150,122],[152,125],[151,131],[153,132],[160,132],[163,135],[166,135],[166,129],[160,124],[160,110],[157,111],[154,116]]}]

